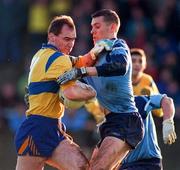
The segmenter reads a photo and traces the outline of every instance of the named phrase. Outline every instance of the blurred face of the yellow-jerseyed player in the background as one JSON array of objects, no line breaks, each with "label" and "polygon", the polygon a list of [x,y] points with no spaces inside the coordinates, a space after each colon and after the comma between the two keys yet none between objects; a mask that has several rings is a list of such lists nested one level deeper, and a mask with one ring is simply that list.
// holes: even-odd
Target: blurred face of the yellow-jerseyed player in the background
[{"label": "blurred face of the yellow-jerseyed player in the background", "polygon": [[145,67],[146,67],[146,61],[145,58],[140,55],[132,55],[132,74],[133,76],[137,76],[138,74],[141,74]]}]

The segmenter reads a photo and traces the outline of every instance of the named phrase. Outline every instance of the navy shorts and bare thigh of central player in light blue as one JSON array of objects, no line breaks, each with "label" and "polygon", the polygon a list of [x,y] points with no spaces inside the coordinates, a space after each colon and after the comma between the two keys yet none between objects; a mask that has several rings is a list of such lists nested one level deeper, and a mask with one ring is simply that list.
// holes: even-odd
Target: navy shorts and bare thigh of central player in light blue
[{"label": "navy shorts and bare thigh of central player in light blue", "polygon": [[110,113],[99,131],[102,143],[91,168],[111,170],[142,140],[143,123],[138,113]]}]

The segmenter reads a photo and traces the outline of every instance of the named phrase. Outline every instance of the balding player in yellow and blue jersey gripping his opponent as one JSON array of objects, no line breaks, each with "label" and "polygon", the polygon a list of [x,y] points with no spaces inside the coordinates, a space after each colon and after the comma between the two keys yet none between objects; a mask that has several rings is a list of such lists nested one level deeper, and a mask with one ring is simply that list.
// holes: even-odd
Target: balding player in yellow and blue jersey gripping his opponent
[{"label": "balding player in yellow and blue jersey gripping his opponent", "polygon": [[[29,109],[27,118],[15,136],[16,170],[44,169],[46,163],[57,169],[86,169],[88,159],[65,133],[60,122],[64,106],[59,90],[69,100],[88,100],[96,96],[93,88],[82,88],[75,81],[59,85],[57,79],[73,66],[90,66],[106,44],[95,45],[86,55],[69,56],[76,39],[76,29],[70,16],[55,17],[48,29],[48,43],[32,58],[29,78]],[[83,68],[79,69],[81,74]]]}]

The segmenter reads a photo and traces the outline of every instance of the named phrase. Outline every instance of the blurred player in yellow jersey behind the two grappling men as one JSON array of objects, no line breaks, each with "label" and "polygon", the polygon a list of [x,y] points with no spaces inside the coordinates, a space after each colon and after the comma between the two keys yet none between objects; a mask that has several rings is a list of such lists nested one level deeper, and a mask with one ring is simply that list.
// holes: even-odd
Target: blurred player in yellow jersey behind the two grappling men
[{"label": "blurred player in yellow jersey behind the two grappling men", "polygon": [[[132,82],[134,95],[154,95],[159,94],[159,90],[153,78],[144,73],[146,68],[146,55],[144,50],[139,48],[132,48],[130,50],[132,57]],[[153,114],[161,117],[163,112],[161,109],[156,109]]]}]

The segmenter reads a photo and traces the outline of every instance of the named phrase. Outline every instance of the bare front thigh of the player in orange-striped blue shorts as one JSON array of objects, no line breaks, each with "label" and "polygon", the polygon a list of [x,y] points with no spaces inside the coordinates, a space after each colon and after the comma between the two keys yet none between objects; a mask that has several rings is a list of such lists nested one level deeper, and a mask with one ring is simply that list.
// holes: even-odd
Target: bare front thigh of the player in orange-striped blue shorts
[{"label": "bare front thigh of the player in orange-striped blue shorts", "polygon": [[48,161],[61,170],[85,170],[89,166],[80,147],[68,139],[60,142]]}]

